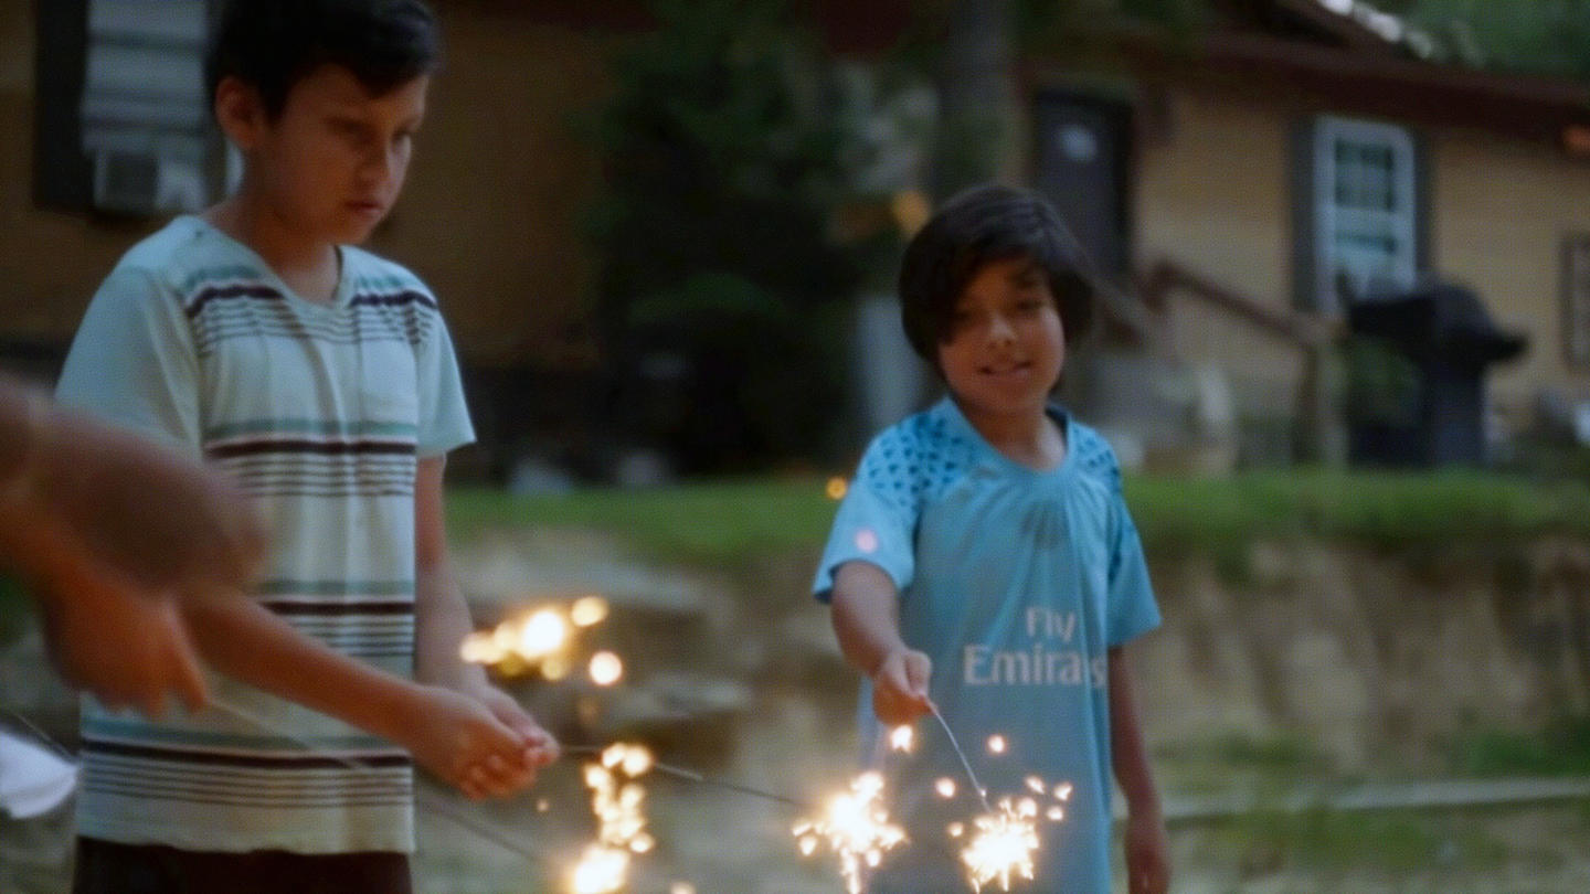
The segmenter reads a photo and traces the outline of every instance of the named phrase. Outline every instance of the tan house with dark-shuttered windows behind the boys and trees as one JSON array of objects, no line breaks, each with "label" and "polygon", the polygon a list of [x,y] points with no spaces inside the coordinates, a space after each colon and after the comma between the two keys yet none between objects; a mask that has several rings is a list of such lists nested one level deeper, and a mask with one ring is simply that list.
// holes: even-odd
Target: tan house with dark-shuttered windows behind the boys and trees
[{"label": "tan house with dark-shuttered windows behind the boys and trees", "polygon": [[[601,173],[576,122],[622,33],[649,21],[633,0],[434,5],[447,68],[372,242],[442,296],[483,433],[514,441],[558,401],[585,402],[561,383],[601,363],[582,237]],[[202,97],[170,86],[196,76],[211,6],[0,0],[13,366],[48,372],[103,272],[159,226],[164,194],[210,199],[224,181]],[[1221,369],[1240,418],[1291,428],[1329,401],[1321,358],[1352,293],[1434,272],[1528,337],[1496,369],[1501,417],[1528,423],[1547,390],[1590,399],[1590,89],[1423,60],[1417,35],[1350,0],[1212,6],[1208,29],[1038,45],[1014,73],[1026,175],[1124,286],[1116,317]],[[840,51],[909,22],[898,0],[814,8]],[[151,164],[154,145],[178,148]]]}]

